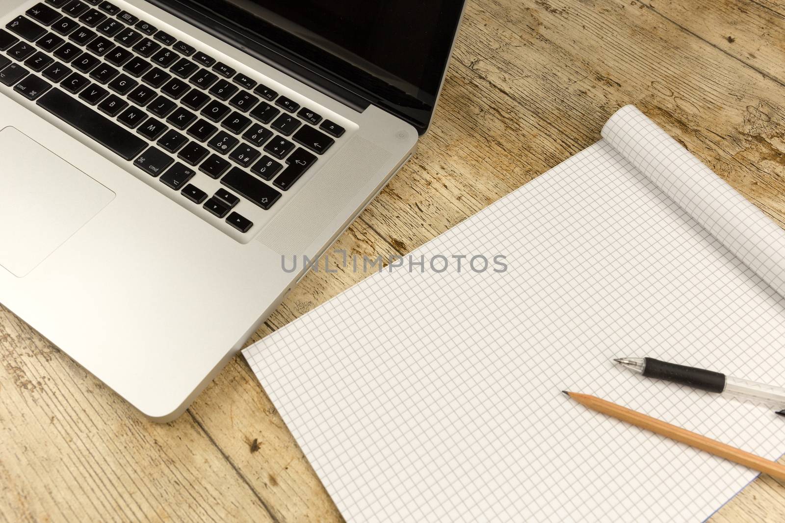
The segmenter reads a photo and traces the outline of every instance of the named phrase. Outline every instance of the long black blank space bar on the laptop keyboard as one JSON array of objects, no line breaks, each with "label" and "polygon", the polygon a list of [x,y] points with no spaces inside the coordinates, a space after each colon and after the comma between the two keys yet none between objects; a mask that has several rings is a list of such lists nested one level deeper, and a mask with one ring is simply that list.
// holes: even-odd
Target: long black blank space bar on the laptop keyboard
[{"label": "long black blank space bar on the laptop keyboard", "polygon": [[41,96],[38,105],[126,160],[136,158],[148,145],[139,136],[123,129],[60,89],[51,89],[49,93]]}]

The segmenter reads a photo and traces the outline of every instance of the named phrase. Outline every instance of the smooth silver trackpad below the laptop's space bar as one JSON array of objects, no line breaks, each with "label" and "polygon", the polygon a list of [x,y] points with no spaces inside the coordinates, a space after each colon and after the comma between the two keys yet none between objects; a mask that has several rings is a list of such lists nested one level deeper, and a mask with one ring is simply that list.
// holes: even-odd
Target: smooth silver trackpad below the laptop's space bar
[{"label": "smooth silver trackpad below the laptop's space bar", "polygon": [[0,131],[0,265],[21,278],[115,193],[13,127]]}]

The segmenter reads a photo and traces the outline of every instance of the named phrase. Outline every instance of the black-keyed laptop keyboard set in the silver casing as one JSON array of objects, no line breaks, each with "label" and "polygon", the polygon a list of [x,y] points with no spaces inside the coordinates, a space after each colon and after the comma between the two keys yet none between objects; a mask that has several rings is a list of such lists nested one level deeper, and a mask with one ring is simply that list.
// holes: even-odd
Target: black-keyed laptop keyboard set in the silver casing
[{"label": "black-keyed laptop keyboard set in the silver casing", "polygon": [[0,51],[3,85],[243,234],[243,200],[271,209],[345,133],[111,2],[38,3],[0,29]]}]

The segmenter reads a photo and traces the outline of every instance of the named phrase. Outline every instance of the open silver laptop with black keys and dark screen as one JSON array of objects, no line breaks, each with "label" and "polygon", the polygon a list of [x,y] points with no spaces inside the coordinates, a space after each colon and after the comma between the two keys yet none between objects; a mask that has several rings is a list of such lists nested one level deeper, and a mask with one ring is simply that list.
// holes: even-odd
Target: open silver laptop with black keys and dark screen
[{"label": "open silver laptop with black keys and dark screen", "polygon": [[176,418],[411,156],[462,10],[3,0],[0,302]]}]

